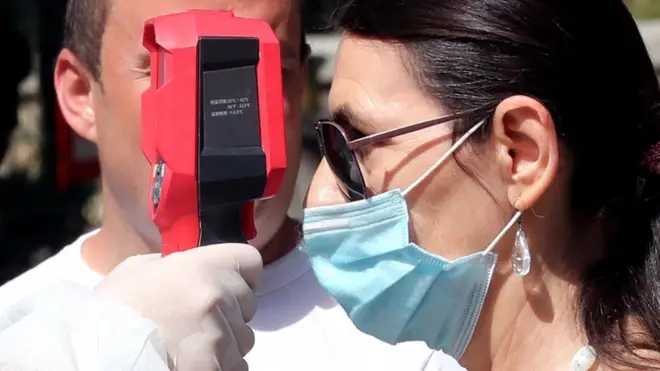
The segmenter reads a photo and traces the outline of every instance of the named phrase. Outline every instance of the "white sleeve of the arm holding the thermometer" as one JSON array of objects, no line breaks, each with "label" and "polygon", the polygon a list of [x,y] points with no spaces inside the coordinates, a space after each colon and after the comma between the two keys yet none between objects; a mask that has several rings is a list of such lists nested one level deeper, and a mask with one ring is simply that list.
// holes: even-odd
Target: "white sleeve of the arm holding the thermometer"
[{"label": "white sleeve of the arm holding the thermometer", "polygon": [[167,371],[156,325],[72,283],[31,295],[0,317],[0,371]]}]

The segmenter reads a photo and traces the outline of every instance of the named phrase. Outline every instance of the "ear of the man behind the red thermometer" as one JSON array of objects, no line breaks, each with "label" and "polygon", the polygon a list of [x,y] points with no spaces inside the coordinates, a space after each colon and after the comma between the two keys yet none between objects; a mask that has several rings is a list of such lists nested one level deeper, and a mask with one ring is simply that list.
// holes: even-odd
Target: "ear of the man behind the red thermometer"
[{"label": "ear of the man behind the red thermometer", "polygon": [[96,143],[93,78],[69,49],[62,49],[57,56],[54,82],[66,122],[78,135]]}]

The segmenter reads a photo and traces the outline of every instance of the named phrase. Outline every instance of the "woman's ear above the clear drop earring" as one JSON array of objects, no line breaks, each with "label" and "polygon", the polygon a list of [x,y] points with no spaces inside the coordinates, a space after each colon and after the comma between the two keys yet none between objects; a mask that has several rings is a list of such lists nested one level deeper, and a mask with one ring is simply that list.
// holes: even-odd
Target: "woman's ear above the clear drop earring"
[{"label": "woman's ear above the clear drop earring", "polygon": [[559,169],[559,147],[550,112],[536,99],[513,96],[493,115],[497,163],[509,184],[509,202],[530,209],[548,190]]}]

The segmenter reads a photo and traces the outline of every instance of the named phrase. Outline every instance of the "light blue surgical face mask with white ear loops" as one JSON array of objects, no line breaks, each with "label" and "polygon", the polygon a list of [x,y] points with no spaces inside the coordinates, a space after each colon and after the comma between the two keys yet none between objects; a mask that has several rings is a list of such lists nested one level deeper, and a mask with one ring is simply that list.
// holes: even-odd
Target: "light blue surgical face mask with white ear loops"
[{"label": "light blue surgical face mask with white ear loops", "polygon": [[491,250],[521,213],[486,250],[450,261],[410,242],[405,196],[481,125],[405,191],[305,210],[302,249],[320,284],[362,332],[390,344],[423,341],[456,359],[465,352],[497,262]]}]

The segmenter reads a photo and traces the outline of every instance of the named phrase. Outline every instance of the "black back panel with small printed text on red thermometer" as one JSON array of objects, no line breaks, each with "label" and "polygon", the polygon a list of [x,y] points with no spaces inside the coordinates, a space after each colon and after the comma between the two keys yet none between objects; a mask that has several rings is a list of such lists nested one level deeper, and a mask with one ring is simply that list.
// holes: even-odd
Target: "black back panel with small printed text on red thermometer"
[{"label": "black back panel with small printed text on red thermometer", "polygon": [[[230,229],[240,227],[241,206],[260,198],[267,181],[259,119],[259,40],[202,37],[197,55],[202,242],[226,242],[229,236],[215,240],[210,235],[230,235]],[[226,229],[204,232],[205,224],[217,223]]]}]

